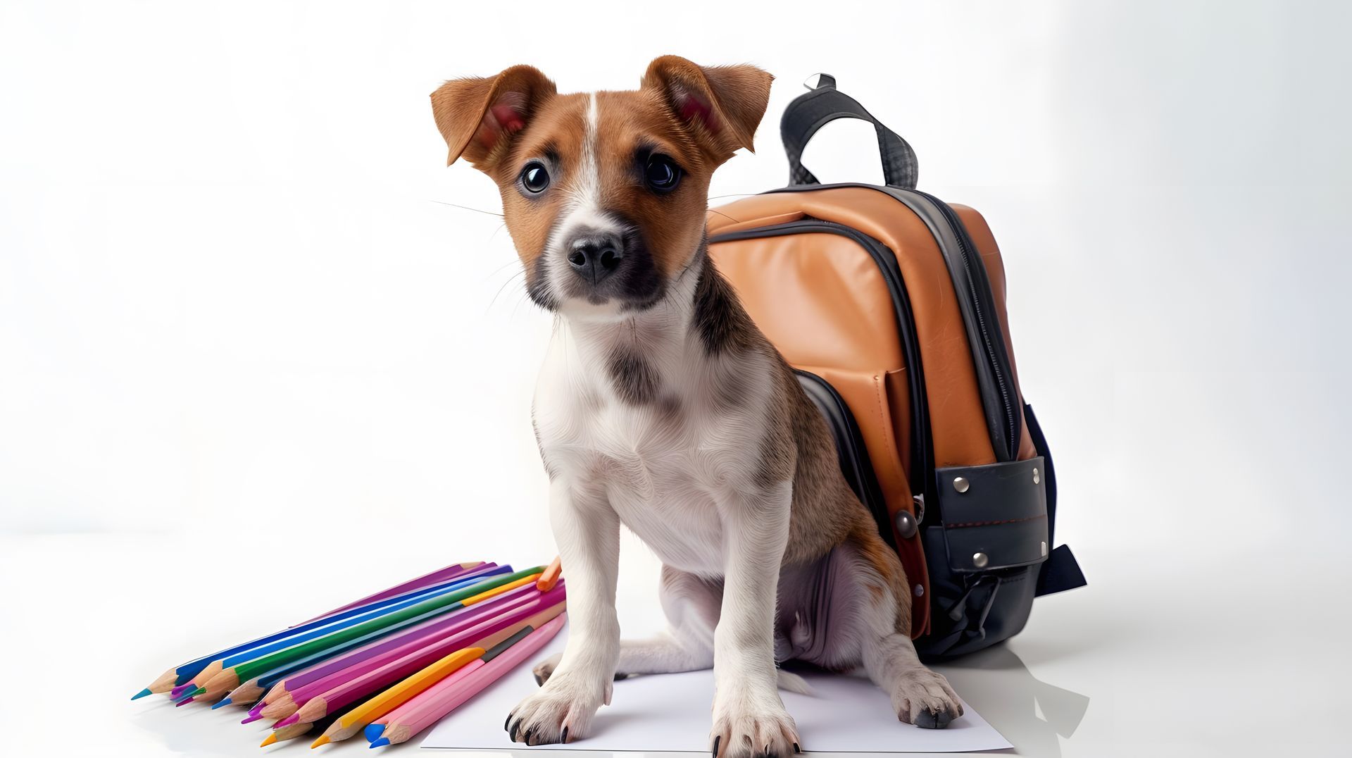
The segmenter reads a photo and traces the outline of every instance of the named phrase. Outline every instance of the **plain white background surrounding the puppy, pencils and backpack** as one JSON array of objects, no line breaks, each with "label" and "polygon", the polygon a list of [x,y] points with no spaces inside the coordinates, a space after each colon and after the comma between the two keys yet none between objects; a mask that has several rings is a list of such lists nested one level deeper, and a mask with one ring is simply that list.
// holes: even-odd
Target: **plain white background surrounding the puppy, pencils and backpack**
[{"label": "plain white background surrounding the puppy, pencils and backpack", "polygon": [[[435,202],[499,203],[443,166],[427,93],[518,62],[631,88],[677,53],[779,77],[711,195],[784,183],[779,114],[826,70],[1000,241],[1091,585],[946,667],[963,696],[1025,754],[1326,754],[1352,669],[1348,28],[1233,0],[5,0],[7,751],[251,754],[124,700],[414,573],[553,555],[550,321],[499,219]],[[873,149],[833,125],[804,162],[875,180]],[[623,562],[642,633],[656,560]]]}]

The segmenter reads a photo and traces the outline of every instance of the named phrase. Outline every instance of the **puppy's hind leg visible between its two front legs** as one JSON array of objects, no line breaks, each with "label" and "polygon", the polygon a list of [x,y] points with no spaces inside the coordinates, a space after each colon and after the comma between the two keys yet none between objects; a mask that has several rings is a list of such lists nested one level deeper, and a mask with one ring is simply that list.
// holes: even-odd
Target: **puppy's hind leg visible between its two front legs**
[{"label": "puppy's hind leg visible between its two front legs", "polygon": [[[714,628],[723,601],[722,582],[662,566],[660,597],[671,631],[652,639],[621,640],[615,678],[631,674],[673,674],[714,666]],[[535,682],[545,684],[560,656],[535,665]]]}]

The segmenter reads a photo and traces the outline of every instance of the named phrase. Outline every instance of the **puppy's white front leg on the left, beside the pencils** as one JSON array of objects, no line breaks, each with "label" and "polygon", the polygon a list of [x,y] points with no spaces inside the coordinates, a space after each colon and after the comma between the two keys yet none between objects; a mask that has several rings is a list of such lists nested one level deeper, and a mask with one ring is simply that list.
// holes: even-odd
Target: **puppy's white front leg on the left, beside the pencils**
[{"label": "puppy's white front leg on the left, beside the pencils", "polygon": [[549,681],[507,716],[507,732],[526,744],[585,736],[610,703],[619,655],[619,517],[603,493],[562,479],[550,486],[549,516],[568,582],[568,643]]}]

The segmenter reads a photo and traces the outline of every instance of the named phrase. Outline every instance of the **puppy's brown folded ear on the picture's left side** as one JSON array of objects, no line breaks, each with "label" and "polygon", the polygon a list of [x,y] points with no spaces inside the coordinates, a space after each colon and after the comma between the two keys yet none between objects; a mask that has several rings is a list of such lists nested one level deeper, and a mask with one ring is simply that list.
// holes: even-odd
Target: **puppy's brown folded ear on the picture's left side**
[{"label": "puppy's brown folded ear on the picture's left side", "polygon": [[526,127],[531,115],[557,89],[539,69],[512,66],[488,79],[453,79],[431,93],[431,114],[446,139],[446,165],[464,156],[480,171],[489,171],[511,137]]}]

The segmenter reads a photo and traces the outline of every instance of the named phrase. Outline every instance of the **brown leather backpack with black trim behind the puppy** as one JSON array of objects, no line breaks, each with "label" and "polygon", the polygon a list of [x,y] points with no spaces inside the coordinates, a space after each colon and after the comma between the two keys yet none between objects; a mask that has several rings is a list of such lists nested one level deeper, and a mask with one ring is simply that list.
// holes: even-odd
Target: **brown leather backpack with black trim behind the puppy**
[{"label": "brown leather backpack with black trim behind the puppy", "polygon": [[[873,125],[887,184],[821,184],[825,123]],[[821,74],[780,122],[788,187],[711,211],[708,249],[821,409],[841,470],[896,550],[927,656],[1009,639],[1033,598],[1086,583],[1053,548],[1056,474],[1023,402],[1005,267],[969,207],[915,190],[911,146]]]}]

